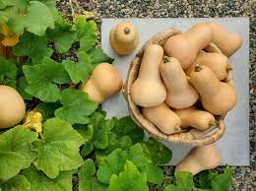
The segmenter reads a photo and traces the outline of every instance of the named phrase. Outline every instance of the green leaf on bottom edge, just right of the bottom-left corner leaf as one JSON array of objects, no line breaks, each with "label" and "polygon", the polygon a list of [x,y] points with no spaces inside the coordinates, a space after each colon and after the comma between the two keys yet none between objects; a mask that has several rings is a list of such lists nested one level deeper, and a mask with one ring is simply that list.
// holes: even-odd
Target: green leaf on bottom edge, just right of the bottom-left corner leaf
[{"label": "green leaf on bottom edge, just right of the bottom-left corner leaf", "polygon": [[72,171],[63,171],[54,178],[48,178],[32,165],[23,174],[31,182],[32,191],[72,191]]}]

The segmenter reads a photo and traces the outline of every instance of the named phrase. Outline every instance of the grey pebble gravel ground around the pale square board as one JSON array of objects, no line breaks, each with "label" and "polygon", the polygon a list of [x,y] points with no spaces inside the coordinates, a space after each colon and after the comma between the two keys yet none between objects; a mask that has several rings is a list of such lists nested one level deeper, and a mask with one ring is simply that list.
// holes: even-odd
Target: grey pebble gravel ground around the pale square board
[{"label": "grey pebble gravel ground around the pale square board", "polygon": [[[256,24],[255,0],[72,0],[75,13],[93,11],[96,22],[101,18],[211,18],[248,17],[250,20],[250,166],[233,166],[233,188],[237,191],[256,189]],[[64,15],[71,14],[69,1],[58,2]],[[163,185],[150,190],[161,190],[173,176],[173,167],[163,167],[167,178]],[[218,170],[223,170],[219,167]]]}]

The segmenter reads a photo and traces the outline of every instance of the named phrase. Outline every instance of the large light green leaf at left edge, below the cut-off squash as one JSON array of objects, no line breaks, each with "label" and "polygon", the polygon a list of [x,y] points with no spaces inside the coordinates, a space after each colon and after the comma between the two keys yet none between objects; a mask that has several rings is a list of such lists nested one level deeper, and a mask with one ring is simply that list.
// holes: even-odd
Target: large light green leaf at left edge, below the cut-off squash
[{"label": "large light green leaf at left edge, below the cut-off squash", "polygon": [[22,126],[0,135],[0,179],[7,180],[31,165],[36,158],[32,152],[32,142],[36,139],[36,133]]}]

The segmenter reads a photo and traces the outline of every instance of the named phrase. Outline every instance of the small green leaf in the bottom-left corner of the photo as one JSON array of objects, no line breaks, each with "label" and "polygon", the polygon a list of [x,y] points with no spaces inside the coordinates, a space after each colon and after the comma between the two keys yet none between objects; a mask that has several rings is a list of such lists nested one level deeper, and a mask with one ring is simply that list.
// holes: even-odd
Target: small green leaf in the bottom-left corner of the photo
[{"label": "small green leaf in the bottom-left corner of the photo", "polygon": [[24,175],[17,174],[2,185],[0,183],[0,190],[1,188],[2,191],[31,191],[31,183]]}]

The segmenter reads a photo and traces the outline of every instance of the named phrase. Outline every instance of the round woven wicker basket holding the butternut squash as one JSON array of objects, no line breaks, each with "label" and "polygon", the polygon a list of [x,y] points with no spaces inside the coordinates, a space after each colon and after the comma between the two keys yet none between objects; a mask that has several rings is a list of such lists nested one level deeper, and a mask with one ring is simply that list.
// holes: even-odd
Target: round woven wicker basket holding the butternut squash
[{"label": "round woven wicker basket holding the butternut squash", "polygon": [[[140,64],[144,52],[144,48],[148,43],[158,43],[163,45],[163,43],[172,35],[179,34],[176,29],[170,28],[165,31],[159,32],[151,37],[145,45],[137,53],[136,57],[133,59],[130,69],[128,71],[127,79],[123,88],[123,95],[128,102],[128,108],[131,117],[133,120],[141,127],[143,127],[149,135],[154,138],[157,138],[160,141],[166,141],[175,144],[181,145],[190,145],[190,146],[204,146],[212,144],[218,141],[224,135],[224,115],[217,116],[217,126],[211,127],[205,131],[198,131],[196,129],[190,129],[187,131],[179,132],[172,135],[165,135],[148,119],[144,117],[141,113],[140,107],[136,105],[131,98],[131,87],[134,81],[137,79]],[[215,45],[210,44],[207,48],[207,51],[210,52],[221,52],[221,50]],[[231,73],[229,72],[225,82],[232,85]]]}]

